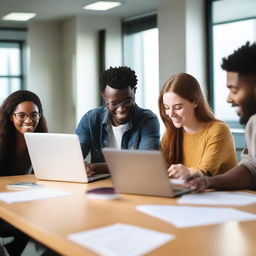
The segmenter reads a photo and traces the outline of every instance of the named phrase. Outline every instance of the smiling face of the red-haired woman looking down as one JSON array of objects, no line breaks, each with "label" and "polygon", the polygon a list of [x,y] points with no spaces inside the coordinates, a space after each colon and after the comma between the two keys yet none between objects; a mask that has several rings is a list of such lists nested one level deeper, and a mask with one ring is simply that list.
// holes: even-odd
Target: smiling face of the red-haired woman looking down
[{"label": "smiling face of the red-haired woman looking down", "polygon": [[172,120],[176,128],[190,128],[197,118],[195,108],[197,104],[179,97],[174,92],[167,92],[163,95],[165,114]]}]

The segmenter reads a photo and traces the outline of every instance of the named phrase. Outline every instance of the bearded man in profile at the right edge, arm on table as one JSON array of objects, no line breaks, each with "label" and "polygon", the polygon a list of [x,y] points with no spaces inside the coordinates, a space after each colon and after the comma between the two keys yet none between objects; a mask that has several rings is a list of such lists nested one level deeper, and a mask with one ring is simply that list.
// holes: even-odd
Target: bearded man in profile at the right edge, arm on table
[{"label": "bearded man in profile at the right edge, arm on table", "polygon": [[205,189],[256,189],[256,43],[247,42],[227,58],[222,66],[227,71],[227,102],[237,108],[240,123],[246,124],[247,147],[240,163],[222,175],[187,178],[188,186]]}]

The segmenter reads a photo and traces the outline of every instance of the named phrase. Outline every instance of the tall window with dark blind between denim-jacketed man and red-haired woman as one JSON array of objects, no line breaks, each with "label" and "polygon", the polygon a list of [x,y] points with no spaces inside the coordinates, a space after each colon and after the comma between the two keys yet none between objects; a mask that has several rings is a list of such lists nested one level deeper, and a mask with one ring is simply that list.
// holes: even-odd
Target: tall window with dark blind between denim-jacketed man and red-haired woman
[{"label": "tall window with dark blind between denim-jacketed man and red-haired woman", "polygon": [[158,114],[159,55],[156,15],[126,20],[124,31],[124,65],[138,76],[136,102]]}]

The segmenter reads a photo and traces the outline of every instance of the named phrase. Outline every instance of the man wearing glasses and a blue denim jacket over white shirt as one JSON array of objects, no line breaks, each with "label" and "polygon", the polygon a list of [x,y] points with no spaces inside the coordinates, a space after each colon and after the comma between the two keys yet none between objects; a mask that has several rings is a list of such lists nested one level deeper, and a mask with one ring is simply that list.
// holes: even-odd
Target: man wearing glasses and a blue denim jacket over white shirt
[{"label": "man wearing glasses and a blue denim jacket over white shirt", "polygon": [[159,149],[156,115],[135,103],[137,76],[129,67],[110,67],[101,77],[105,106],[92,109],[81,119],[76,133],[84,158],[91,153],[87,173],[108,172],[101,149]]}]

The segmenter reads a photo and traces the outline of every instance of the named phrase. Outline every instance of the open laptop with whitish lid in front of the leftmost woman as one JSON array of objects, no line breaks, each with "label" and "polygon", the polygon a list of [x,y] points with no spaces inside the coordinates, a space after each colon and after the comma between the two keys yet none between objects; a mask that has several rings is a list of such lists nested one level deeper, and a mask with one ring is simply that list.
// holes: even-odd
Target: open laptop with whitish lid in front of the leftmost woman
[{"label": "open laptop with whitish lid in front of the leftmost woman", "polygon": [[110,176],[87,176],[76,134],[25,133],[24,136],[37,179],[88,183]]}]

